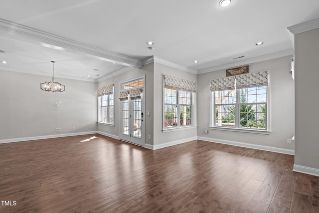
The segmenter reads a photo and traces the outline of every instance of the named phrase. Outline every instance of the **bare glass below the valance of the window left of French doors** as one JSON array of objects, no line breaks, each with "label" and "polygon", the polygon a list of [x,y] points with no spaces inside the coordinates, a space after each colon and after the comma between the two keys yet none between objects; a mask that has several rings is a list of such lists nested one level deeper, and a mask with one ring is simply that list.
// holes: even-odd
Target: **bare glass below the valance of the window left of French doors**
[{"label": "bare glass below the valance of the window left of French doors", "polygon": [[101,123],[114,124],[114,95],[102,95],[101,97]]}]

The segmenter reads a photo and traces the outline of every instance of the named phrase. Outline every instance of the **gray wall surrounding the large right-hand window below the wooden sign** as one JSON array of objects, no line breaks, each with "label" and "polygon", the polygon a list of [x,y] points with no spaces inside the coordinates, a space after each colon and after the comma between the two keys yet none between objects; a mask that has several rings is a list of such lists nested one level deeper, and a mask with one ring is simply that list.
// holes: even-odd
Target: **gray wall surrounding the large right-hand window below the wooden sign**
[{"label": "gray wall surrounding the large right-hand window below the wooden sign", "polygon": [[[294,136],[294,80],[288,73],[291,56],[249,64],[249,72],[270,70],[270,135],[210,130],[209,110],[211,79],[226,76],[225,70],[197,75],[197,136],[262,146],[294,149],[287,139]],[[208,129],[208,134],[204,130]]]}]

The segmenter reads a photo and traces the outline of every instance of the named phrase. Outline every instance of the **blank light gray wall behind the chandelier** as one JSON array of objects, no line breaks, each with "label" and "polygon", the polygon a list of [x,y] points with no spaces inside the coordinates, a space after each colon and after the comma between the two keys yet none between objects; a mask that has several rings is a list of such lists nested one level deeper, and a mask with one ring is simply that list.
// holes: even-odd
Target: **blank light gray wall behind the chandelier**
[{"label": "blank light gray wall behind the chandelier", "polygon": [[0,70],[0,140],[96,130],[96,83],[55,78],[65,91],[52,93],[40,90],[47,80]]}]

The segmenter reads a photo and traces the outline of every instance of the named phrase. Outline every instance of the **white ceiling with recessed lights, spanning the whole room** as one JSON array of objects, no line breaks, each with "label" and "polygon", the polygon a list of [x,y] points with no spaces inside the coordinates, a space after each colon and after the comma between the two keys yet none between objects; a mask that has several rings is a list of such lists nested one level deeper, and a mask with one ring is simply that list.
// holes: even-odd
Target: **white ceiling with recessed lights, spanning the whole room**
[{"label": "white ceiling with recessed lights, spanning the whole room", "polygon": [[292,54],[287,27],[319,18],[319,0],[218,3],[0,0],[0,69],[51,75],[54,60],[56,76],[95,81],[155,55],[201,73]]}]

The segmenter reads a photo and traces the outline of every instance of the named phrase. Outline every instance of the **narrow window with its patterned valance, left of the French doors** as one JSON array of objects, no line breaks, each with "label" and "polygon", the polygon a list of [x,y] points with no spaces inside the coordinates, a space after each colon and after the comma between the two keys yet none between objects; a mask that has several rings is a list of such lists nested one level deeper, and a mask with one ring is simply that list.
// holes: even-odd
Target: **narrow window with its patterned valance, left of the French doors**
[{"label": "narrow window with its patterned valance, left of the French doors", "polygon": [[114,125],[114,85],[103,86],[97,89],[98,122]]}]

